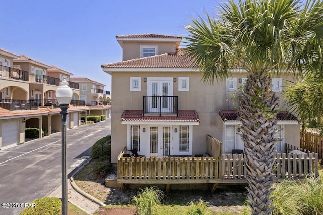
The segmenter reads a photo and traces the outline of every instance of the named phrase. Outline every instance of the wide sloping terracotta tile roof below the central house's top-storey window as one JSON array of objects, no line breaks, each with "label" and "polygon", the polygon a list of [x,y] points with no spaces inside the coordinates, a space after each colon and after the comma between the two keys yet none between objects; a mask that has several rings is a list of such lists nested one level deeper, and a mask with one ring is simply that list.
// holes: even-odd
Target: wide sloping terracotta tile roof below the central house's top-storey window
[{"label": "wide sloping terracotta tile roof below the central house's top-storey window", "polygon": [[101,65],[102,68],[189,68],[193,69],[194,61],[185,55],[185,49],[177,53],[166,53],[146,58],[137,58],[117,63]]}]

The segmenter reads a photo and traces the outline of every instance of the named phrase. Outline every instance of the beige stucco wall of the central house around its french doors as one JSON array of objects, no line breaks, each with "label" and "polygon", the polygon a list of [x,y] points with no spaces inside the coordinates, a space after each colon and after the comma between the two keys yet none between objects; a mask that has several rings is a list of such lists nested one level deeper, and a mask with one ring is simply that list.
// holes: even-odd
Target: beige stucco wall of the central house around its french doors
[{"label": "beige stucco wall of the central house around its french doors", "polygon": [[[246,73],[232,74],[232,77],[237,78],[237,89],[242,85],[238,81],[239,78],[246,76]],[[141,91],[130,91],[130,77],[141,77]],[[113,163],[116,163],[117,156],[127,143],[127,126],[120,122],[123,111],[143,109],[143,96],[147,95],[148,84],[148,81],[144,82],[145,77],[176,78],[176,82],[172,82],[173,95],[179,96],[179,110],[197,111],[200,123],[198,126],[193,126],[193,155],[206,152],[206,134],[222,141],[223,122],[218,111],[235,109],[232,99],[234,92],[226,91],[226,81],[206,84],[201,81],[201,74],[197,72],[112,72],[112,91],[117,94],[113,98],[111,121],[111,160]],[[178,90],[179,77],[189,77],[188,92]],[[293,80],[293,76],[285,76],[283,79]],[[283,99],[281,103],[283,104]],[[298,139],[299,144],[297,126],[288,125],[285,130],[287,132],[285,140],[297,144]]]}]

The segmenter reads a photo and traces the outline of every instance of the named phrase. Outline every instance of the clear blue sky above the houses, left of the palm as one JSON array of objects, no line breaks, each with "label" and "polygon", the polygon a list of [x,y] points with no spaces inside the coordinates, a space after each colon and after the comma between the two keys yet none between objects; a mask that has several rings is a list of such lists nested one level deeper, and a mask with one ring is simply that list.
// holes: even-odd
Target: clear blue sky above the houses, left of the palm
[{"label": "clear blue sky above the houses, left of the palm", "polygon": [[218,5],[216,0],[2,1],[0,47],[55,65],[72,77],[98,81],[111,91],[111,77],[100,66],[122,60],[116,35],[184,36],[190,18],[214,12]]}]

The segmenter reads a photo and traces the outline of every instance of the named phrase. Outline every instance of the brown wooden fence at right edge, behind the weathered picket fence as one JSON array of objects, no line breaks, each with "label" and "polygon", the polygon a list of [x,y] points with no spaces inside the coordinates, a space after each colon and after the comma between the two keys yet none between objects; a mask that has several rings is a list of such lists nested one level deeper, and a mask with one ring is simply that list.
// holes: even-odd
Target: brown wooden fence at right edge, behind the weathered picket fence
[{"label": "brown wooden fence at right edge, behind the weathered picket fence", "polygon": [[307,152],[318,153],[318,158],[322,158],[323,135],[309,131],[300,131],[300,147]]}]

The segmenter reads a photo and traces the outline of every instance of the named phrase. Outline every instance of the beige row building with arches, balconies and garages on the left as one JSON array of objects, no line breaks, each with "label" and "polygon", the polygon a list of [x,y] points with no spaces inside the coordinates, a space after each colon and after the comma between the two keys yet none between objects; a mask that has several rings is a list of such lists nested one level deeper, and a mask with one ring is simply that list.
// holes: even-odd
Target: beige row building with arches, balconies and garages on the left
[{"label": "beige row building with arches, balconies and garages on the left", "polygon": [[[55,91],[62,78],[68,80],[70,75],[0,48],[0,149],[24,143],[26,127],[44,129],[46,135],[61,131]],[[69,85],[73,96],[79,98],[78,84],[69,81]],[[88,110],[85,104],[73,105],[68,109],[67,128],[80,126],[80,114]]]}]

